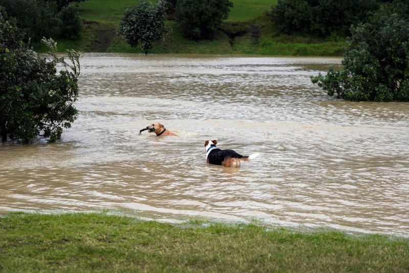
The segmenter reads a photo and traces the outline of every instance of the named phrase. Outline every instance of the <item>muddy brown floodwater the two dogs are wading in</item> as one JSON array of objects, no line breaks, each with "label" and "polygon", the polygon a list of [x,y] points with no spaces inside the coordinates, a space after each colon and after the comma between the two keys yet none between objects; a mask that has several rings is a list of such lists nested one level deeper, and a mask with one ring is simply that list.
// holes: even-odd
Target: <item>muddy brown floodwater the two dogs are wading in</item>
[{"label": "muddy brown floodwater the two dogs are wading in", "polygon": [[[178,222],[409,236],[409,103],[328,97],[339,58],[83,54],[57,143],[0,144],[0,215],[110,212]],[[177,137],[147,131],[159,121]],[[243,155],[208,165],[204,142]]]}]

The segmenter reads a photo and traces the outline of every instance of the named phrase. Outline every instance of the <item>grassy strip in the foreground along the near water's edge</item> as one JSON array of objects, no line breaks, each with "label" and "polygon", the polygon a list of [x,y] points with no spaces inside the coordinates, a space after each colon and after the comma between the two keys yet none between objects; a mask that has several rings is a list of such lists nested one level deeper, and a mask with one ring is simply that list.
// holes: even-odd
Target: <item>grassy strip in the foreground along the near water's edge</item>
[{"label": "grassy strip in the foreground along the near water's edge", "polygon": [[105,214],[0,218],[0,271],[407,272],[409,240]]}]

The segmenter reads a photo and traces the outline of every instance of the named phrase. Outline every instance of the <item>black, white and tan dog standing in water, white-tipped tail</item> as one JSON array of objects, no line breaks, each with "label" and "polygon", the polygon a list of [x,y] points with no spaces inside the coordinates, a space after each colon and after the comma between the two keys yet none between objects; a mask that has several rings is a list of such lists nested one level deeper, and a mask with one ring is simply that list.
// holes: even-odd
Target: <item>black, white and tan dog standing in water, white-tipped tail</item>
[{"label": "black, white and tan dog standing in water, white-tipped tail", "polygon": [[233,150],[221,150],[216,148],[217,140],[206,140],[206,160],[210,164],[222,165],[225,167],[240,167],[240,161],[250,161],[259,154],[255,153],[249,156],[242,156]]}]

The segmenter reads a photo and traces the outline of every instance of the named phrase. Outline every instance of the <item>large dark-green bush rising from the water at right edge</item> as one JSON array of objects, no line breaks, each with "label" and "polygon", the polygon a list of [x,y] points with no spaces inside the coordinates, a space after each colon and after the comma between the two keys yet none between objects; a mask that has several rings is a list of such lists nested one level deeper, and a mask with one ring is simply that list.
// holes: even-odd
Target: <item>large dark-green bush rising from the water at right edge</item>
[{"label": "large dark-green bush rising from the water at right edge", "polygon": [[311,81],[333,96],[347,100],[409,101],[409,5],[396,0],[371,23],[353,27],[342,60],[343,68]]}]

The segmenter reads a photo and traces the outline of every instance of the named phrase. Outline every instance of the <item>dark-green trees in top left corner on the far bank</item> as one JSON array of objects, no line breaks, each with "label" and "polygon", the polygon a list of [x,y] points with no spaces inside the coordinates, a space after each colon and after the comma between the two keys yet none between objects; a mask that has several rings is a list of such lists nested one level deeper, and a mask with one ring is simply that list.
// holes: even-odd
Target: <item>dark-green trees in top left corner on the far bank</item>
[{"label": "dark-green trees in top left corner on the far bank", "polygon": [[43,36],[77,39],[82,31],[79,14],[71,2],[84,0],[0,0],[0,6],[17,20],[25,40],[40,41]]}]

